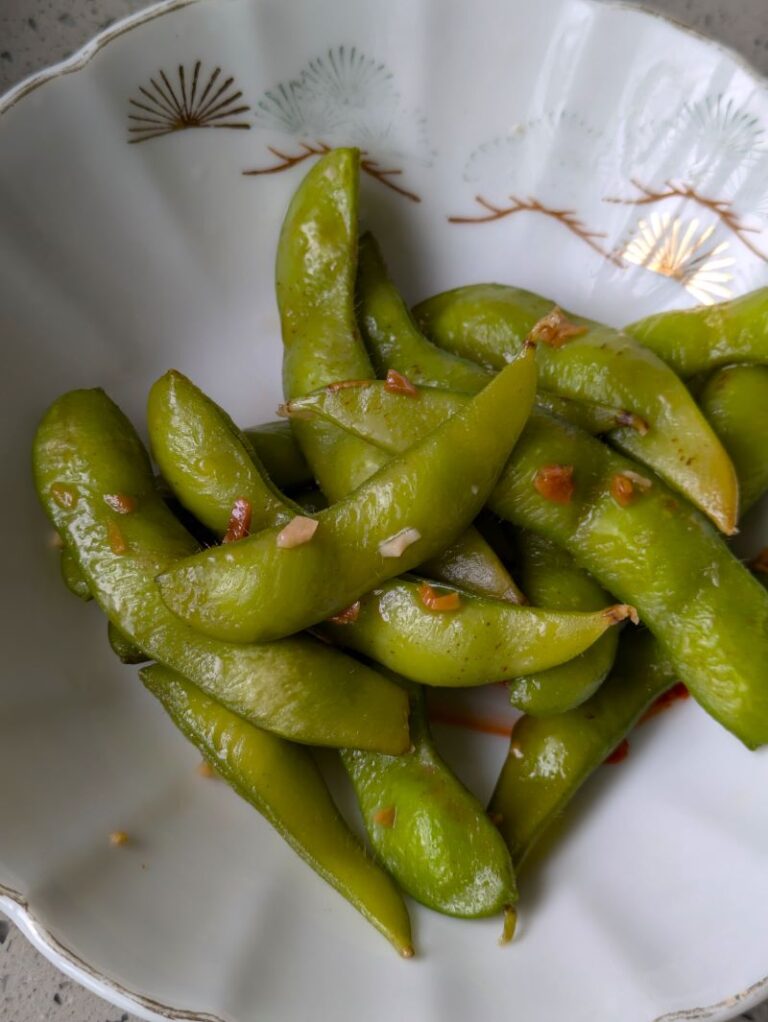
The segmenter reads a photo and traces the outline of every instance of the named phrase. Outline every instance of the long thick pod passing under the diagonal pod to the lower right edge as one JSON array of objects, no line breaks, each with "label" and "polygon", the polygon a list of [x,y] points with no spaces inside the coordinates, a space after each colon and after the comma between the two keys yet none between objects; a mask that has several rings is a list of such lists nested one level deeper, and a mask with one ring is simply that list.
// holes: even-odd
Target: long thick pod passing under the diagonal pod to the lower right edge
[{"label": "long thick pod passing under the diagonal pod to the lower right edge", "polygon": [[[380,384],[356,388],[344,411],[354,417],[355,400],[378,388],[380,409],[392,409]],[[365,392],[361,392],[365,391]],[[357,419],[356,429],[374,442],[380,427],[386,449],[407,449],[423,423],[446,414],[452,398],[465,394],[423,388],[400,413]],[[318,396],[316,408],[331,415]],[[432,408],[431,408],[432,406]],[[338,422],[338,419],[333,421]],[[399,433],[399,435],[398,435]],[[569,504],[545,500],[534,487],[542,466],[574,468]],[[614,596],[635,606],[669,654],[679,678],[716,719],[746,745],[768,741],[768,598],[712,526],[661,480],[637,493],[628,507],[611,496],[615,474],[638,471],[604,444],[542,412],[524,429],[488,506],[499,517],[537,531],[568,550]]]}]

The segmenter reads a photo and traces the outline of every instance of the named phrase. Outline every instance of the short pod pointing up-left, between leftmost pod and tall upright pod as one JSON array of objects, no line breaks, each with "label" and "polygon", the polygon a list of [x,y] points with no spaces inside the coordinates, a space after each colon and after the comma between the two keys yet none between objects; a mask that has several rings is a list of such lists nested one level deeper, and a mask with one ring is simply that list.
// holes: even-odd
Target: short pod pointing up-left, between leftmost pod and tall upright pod
[{"label": "short pod pointing up-left, between leftmost pod and tall upright pod", "polygon": [[147,428],[161,475],[181,504],[217,536],[227,531],[238,499],[251,505],[254,532],[292,517],[250,440],[186,376],[171,370],[152,385]]}]

